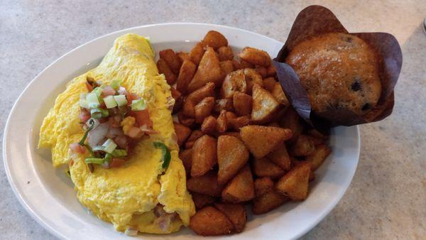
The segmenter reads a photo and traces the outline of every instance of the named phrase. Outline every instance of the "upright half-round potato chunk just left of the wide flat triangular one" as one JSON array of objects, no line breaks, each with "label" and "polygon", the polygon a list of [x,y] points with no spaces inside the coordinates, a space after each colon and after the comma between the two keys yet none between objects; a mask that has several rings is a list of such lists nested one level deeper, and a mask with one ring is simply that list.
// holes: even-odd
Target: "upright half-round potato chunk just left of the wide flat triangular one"
[{"label": "upright half-round potato chunk just left of the wide flat triangular one", "polygon": [[225,184],[246,165],[249,160],[249,151],[244,143],[233,136],[219,136],[217,138],[217,164],[219,171],[217,181]]}]

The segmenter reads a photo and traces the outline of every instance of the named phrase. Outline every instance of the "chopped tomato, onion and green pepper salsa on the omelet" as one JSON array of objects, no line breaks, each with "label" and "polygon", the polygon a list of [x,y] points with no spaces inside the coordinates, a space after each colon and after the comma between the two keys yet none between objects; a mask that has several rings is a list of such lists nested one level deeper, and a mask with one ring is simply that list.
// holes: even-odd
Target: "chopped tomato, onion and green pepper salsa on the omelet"
[{"label": "chopped tomato, onion and green pepper salsa on the omelet", "polygon": [[[89,151],[85,159],[88,165],[118,168],[143,136],[158,133],[153,130],[148,106],[145,99],[128,92],[117,80],[106,85],[87,77],[86,87],[88,92],[80,96],[80,123],[85,132],[70,149],[80,154]],[[170,159],[163,157],[163,166],[166,161]]]}]

